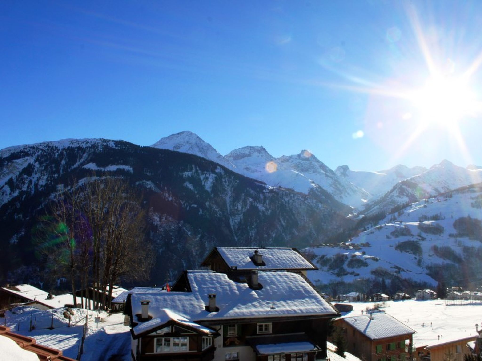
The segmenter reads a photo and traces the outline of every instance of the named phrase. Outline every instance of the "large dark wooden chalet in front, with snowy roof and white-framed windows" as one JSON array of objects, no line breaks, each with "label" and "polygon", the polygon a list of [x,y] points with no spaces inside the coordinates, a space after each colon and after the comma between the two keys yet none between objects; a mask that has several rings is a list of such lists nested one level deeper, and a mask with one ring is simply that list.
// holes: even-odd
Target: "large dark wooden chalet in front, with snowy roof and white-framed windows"
[{"label": "large dark wooden chalet in front, with snowy roof and white-framed windows", "polygon": [[129,294],[133,360],[326,359],[335,309],[301,273],[250,271],[185,271],[171,292]]}]

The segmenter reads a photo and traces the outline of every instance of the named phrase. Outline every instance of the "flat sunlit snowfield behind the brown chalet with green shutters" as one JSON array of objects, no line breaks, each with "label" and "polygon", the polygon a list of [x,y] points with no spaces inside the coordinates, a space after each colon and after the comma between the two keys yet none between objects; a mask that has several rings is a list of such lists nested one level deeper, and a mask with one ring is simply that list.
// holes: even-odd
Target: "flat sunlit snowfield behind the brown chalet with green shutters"
[{"label": "flat sunlit snowfield behind the brown chalet with green shutters", "polygon": [[440,341],[476,335],[475,324],[481,324],[482,302],[449,301],[443,299],[386,302],[350,302],[353,311],[343,312],[343,317],[357,316],[372,308],[375,303],[381,310],[415,330],[414,346],[427,346]]}]

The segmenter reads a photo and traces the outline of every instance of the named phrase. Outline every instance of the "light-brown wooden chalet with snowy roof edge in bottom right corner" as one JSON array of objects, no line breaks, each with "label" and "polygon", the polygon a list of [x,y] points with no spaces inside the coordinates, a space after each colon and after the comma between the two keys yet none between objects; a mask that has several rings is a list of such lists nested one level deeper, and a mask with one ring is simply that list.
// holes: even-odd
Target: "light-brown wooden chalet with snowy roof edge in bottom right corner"
[{"label": "light-brown wooden chalet with snowy roof edge in bottom right corner", "polygon": [[430,361],[463,361],[465,355],[470,355],[472,351],[467,346],[468,343],[475,341],[476,335],[451,340],[442,339],[432,343],[425,348],[429,351]]}]

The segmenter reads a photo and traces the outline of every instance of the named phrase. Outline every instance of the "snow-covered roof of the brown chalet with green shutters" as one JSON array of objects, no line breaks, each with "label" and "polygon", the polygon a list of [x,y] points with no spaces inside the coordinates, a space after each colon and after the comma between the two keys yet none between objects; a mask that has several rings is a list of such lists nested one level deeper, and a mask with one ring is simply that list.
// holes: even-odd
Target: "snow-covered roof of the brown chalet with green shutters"
[{"label": "snow-covered roof of the brown chalet with green shutters", "polygon": [[415,333],[413,329],[384,312],[345,317],[343,320],[372,340]]}]

